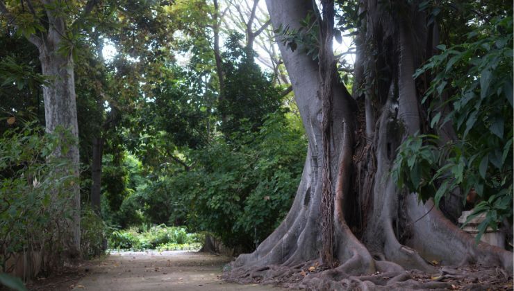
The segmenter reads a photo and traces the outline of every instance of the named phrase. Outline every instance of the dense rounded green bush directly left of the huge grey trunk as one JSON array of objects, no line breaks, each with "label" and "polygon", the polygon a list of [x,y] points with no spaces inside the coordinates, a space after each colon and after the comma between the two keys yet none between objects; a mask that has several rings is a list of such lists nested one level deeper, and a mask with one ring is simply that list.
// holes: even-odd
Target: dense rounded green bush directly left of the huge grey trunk
[{"label": "dense rounded green bush directly left of the huge grey trunk", "polygon": [[[196,152],[199,166],[183,173],[177,201],[190,208],[188,224],[212,231],[228,246],[255,247],[288,212],[306,155],[302,132],[273,114],[260,132],[247,132],[242,144],[217,141]],[[251,141],[251,142],[249,142]]]}]

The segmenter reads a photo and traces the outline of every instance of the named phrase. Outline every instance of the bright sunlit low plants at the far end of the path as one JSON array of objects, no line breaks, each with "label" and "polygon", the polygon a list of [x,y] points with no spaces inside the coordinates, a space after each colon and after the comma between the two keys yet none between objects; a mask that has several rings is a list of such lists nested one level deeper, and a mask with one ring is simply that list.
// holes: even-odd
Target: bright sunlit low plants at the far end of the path
[{"label": "bright sunlit low plants at the far end of the path", "polygon": [[110,233],[109,249],[199,249],[201,236],[187,233],[183,227],[166,227],[164,224],[153,227],[131,227]]}]

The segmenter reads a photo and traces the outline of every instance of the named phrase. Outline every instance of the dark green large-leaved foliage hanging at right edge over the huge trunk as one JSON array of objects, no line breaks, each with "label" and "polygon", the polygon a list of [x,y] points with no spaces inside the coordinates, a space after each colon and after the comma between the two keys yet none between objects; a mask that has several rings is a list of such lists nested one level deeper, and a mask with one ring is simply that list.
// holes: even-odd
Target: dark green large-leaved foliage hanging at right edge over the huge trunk
[{"label": "dark green large-leaved foliage hanging at right edge over the huge trunk", "polygon": [[463,193],[473,188],[481,201],[468,220],[486,213],[477,240],[486,227],[497,229],[513,217],[512,31],[512,17],[494,17],[470,31],[466,42],[438,46],[441,53],[415,73],[434,76],[423,99],[430,126],[442,130],[451,122],[458,140],[438,145],[436,136],[411,136],[392,172],[399,186],[422,200],[433,197],[436,205],[456,187]]}]

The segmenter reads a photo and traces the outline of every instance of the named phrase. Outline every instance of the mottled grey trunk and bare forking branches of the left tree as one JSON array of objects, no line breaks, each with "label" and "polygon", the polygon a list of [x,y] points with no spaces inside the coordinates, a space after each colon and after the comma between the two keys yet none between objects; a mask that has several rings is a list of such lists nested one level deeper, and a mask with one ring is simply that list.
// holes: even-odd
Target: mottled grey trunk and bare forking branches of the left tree
[{"label": "mottled grey trunk and bare forking branches of the left tree", "polygon": [[[71,164],[73,175],[78,178],[78,121],[74,64],[71,52],[67,55],[58,52],[59,48],[65,44],[64,36],[67,35],[65,15],[56,8],[58,5],[56,5],[55,0],[42,0],[42,3],[47,6],[43,11],[46,16],[45,22],[42,24],[47,26],[47,31],[40,32],[37,35],[29,35],[28,40],[38,47],[42,73],[49,78],[49,85],[43,87],[46,130],[47,132],[55,132],[58,127],[62,126],[63,129],[71,132],[75,140],[71,145],[67,145],[68,150],[63,151],[63,148],[58,148],[53,152],[53,155],[67,159]],[[88,1],[84,7],[83,15],[88,15],[96,3],[96,0]],[[35,19],[41,19],[31,0],[26,0],[26,5]],[[11,14],[3,0],[0,0],[0,13],[9,19],[10,24],[18,26],[16,17]],[[80,19],[81,17],[79,17]],[[73,258],[81,254],[81,196],[78,179],[76,183],[69,187],[71,197],[69,207],[72,211],[72,220],[67,221],[64,243],[67,245],[68,255]]]}]

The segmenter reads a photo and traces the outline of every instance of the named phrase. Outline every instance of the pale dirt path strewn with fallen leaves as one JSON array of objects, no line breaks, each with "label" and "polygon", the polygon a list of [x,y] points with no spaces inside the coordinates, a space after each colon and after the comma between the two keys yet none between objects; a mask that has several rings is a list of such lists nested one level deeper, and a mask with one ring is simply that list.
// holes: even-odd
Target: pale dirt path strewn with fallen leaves
[{"label": "pale dirt path strewn with fallen leaves", "polygon": [[283,290],[222,281],[222,267],[229,261],[225,256],[186,251],[115,252],[91,267],[73,290]]}]

